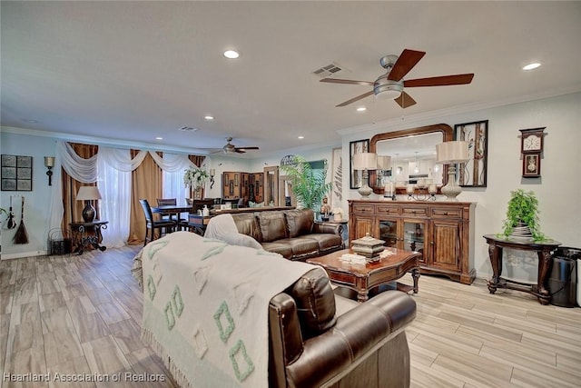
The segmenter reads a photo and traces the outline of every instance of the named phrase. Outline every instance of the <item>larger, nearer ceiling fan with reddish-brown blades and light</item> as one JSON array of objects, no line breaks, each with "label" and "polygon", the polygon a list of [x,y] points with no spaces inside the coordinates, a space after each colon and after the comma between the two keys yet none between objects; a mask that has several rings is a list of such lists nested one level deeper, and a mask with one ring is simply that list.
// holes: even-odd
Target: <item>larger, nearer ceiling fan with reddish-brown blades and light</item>
[{"label": "larger, nearer ceiling fan with reddish-brown blades and light", "polygon": [[331,84],[348,84],[348,85],[369,85],[373,86],[373,90],[370,90],[363,95],[358,95],[350,100],[341,103],[339,106],[345,106],[356,101],[359,101],[369,95],[376,95],[378,98],[388,99],[393,98],[396,103],[402,108],[407,108],[416,101],[411,98],[406,92],[404,92],[404,87],[420,87],[420,86],[447,86],[447,85],[466,85],[472,82],[474,74],[465,75],[441,75],[428,78],[418,78],[403,80],[403,77],[409,73],[409,71],[418,64],[419,60],[426,55],[423,51],[414,51],[409,49],[404,49],[401,55],[386,55],[379,59],[379,64],[387,70],[384,75],[379,75],[375,82],[371,81],[353,81],[349,79],[338,79],[338,78],[323,78],[320,82],[328,82]]}]

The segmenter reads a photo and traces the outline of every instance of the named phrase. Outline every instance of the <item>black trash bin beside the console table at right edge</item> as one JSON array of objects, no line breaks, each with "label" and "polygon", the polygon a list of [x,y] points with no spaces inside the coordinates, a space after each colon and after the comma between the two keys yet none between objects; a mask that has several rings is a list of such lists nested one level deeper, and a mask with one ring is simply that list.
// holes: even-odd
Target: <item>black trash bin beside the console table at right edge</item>
[{"label": "black trash bin beside the console table at right edge", "polygon": [[581,249],[568,247],[556,249],[547,284],[551,304],[560,307],[576,306],[576,264],[579,258]]}]

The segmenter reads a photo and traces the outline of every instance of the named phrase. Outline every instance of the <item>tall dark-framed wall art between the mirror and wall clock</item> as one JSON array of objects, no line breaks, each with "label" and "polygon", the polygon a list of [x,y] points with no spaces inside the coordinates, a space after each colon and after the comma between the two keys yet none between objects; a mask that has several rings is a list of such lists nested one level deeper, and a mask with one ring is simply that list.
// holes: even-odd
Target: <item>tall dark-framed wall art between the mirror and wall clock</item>
[{"label": "tall dark-framed wall art between the mirror and wall clock", "polygon": [[462,187],[487,186],[488,120],[454,125],[454,140],[468,142],[470,160],[459,165]]}]

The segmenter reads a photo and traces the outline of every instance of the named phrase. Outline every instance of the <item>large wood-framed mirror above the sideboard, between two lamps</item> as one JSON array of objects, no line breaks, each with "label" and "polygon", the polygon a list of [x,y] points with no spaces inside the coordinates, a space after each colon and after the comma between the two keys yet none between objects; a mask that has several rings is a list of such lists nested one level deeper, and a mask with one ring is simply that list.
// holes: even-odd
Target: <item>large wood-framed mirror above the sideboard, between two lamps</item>
[{"label": "large wood-framed mirror above the sideboard, between two lamps", "polygon": [[389,169],[369,172],[374,193],[383,194],[387,181],[396,184],[397,194],[405,194],[407,184],[430,182],[438,190],[447,184],[447,166],[436,164],[436,144],[451,141],[452,134],[448,124],[434,124],[374,135],[369,152],[391,157]]}]

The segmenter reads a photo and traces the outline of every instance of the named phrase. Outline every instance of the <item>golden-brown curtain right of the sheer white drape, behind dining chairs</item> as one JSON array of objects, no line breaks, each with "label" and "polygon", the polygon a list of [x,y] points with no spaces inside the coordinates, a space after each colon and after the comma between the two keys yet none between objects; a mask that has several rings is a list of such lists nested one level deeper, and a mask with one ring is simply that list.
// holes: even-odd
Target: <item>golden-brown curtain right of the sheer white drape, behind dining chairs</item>
[{"label": "golden-brown curtain right of the sheer white drape, behind dining chairs", "polygon": [[[132,158],[139,150],[131,150]],[[162,198],[162,169],[155,164],[151,154],[147,154],[143,163],[132,173],[132,194],[130,209],[130,226],[128,244],[143,244],[146,225],[140,199],[146,199],[150,205],[157,204],[157,198]]]}]

